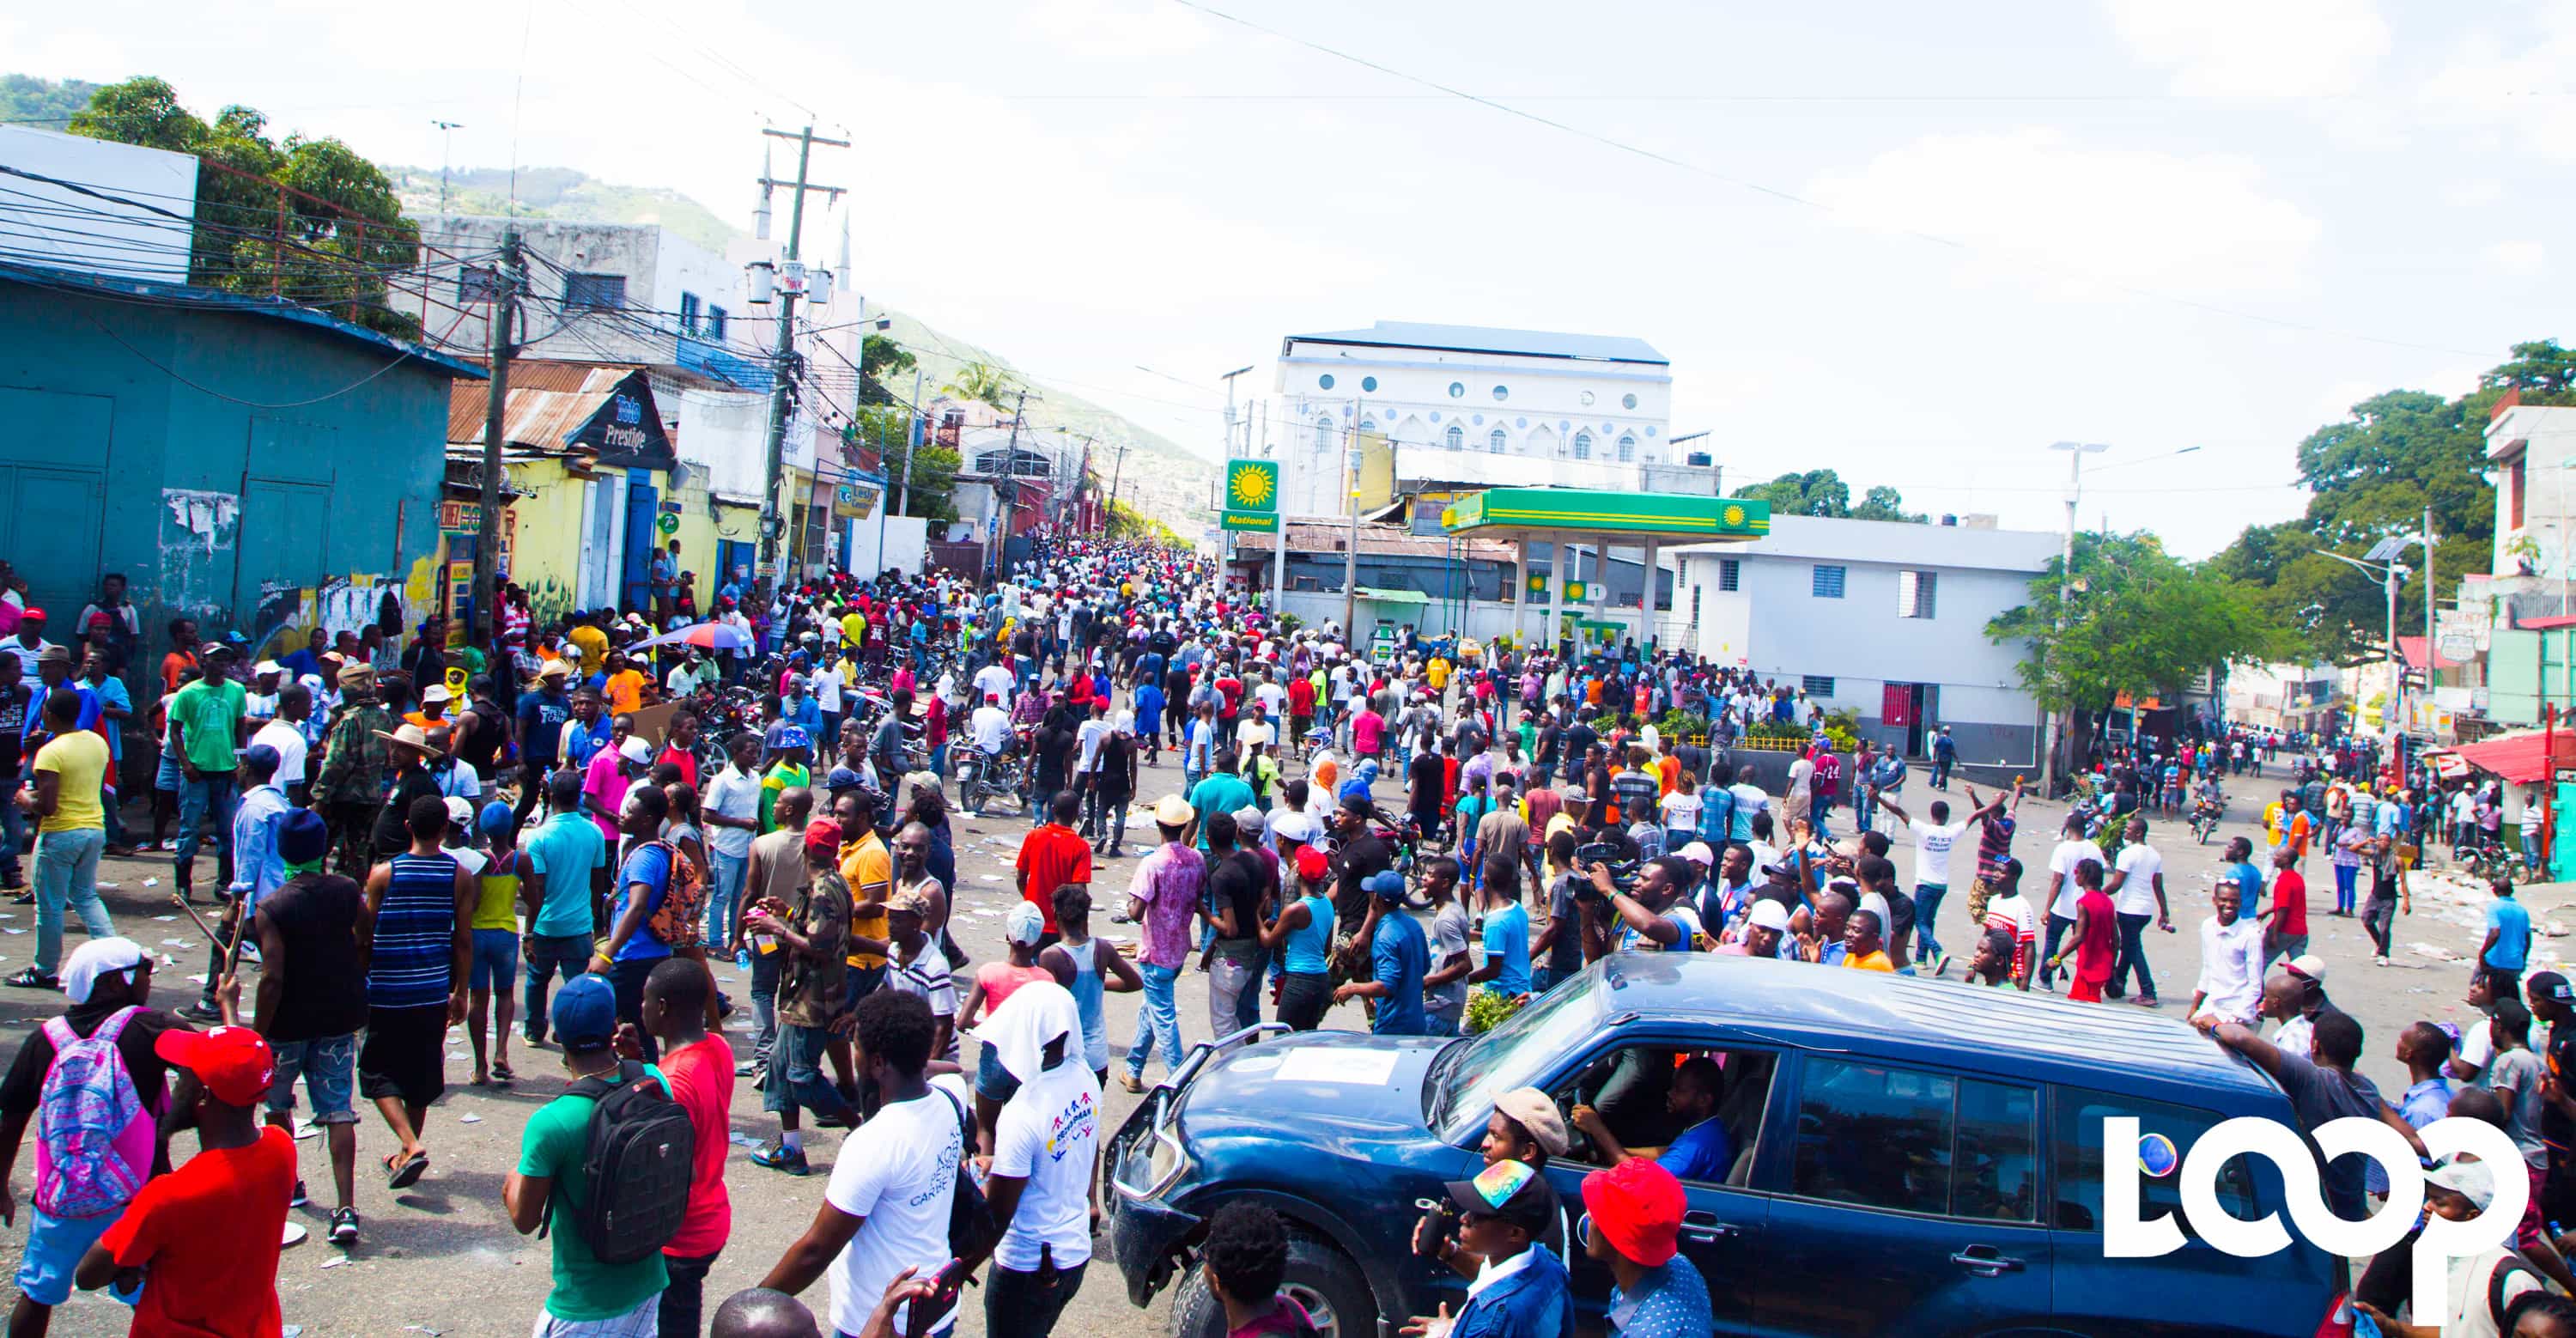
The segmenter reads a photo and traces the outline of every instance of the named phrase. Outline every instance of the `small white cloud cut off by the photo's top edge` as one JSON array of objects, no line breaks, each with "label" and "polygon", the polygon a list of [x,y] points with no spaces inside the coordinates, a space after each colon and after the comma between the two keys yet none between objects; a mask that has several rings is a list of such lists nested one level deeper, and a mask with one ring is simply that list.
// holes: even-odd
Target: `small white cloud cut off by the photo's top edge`
[{"label": "small white cloud cut off by the photo's top edge", "polygon": [[2195,98],[2352,93],[2388,54],[2372,0],[2110,0],[2110,21]]}]

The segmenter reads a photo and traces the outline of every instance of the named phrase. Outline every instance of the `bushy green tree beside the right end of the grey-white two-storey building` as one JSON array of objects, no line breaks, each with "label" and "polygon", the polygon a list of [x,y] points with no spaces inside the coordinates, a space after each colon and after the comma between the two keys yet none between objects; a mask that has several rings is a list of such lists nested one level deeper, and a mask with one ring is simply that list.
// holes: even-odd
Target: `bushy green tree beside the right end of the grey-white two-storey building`
[{"label": "bushy green tree beside the right end of the grey-white two-storey building", "polygon": [[2277,657],[2290,642],[2244,585],[2174,559],[2154,534],[2076,536],[2063,629],[2058,572],[2050,559],[2030,603],[1986,624],[1996,645],[2030,645],[2022,688],[2050,712],[2105,712],[2120,693],[2179,696],[2205,673]]}]

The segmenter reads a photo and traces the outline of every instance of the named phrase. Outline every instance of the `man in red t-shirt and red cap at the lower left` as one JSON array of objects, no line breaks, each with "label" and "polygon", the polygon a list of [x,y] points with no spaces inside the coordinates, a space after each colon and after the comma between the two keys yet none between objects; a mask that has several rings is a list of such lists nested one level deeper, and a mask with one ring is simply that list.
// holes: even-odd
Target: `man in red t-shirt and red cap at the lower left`
[{"label": "man in red t-shirt and red cap at the lower left", "polygon": [[196,1129],[188,1165],[147,1181],[72,1274],[85,1292],[147,1284],[129,1333],[258,1338],[281,1330],[278,1248],[296,1186],[296,1139],[260,1127],[276,1060],[234,1023],[240,985],[216,995],[227,1026],[162,1031],[152,1052],[178,1070],[167,1129]]}]

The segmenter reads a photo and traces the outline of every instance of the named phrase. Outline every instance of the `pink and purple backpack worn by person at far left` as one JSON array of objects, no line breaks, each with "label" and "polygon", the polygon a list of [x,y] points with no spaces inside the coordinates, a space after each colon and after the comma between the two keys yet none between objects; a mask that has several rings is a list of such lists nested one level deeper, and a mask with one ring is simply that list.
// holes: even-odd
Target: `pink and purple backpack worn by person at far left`
[{"label": "pink and purple backpack worn by person at far left", "polygon": [[64,1018],[44,1021],[54,1067],[44,1070],[36,1101],[36,1212],[49,1217],[100,1217],[121,1212],[144,1173],[126,1163],[116,1139],[144,1114],[116,1039],[142,1008],[118,1008],[82,1036]]}]

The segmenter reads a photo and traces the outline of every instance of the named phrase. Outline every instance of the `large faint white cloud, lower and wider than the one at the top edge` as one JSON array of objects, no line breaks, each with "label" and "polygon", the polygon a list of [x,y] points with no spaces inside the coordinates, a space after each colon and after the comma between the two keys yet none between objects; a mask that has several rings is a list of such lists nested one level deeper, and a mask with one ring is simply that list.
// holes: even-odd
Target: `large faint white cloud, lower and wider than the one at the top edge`
[{"label": "large faint white cloud, lower and wider than the one at the top edge", "polygon": [[2321,232],[2249,160],[2094,150],[2053,129],[1917,139],[1808,193],[1865,227],[1965,242],[1994,271],[2038,268],[2061,291],[2280,291]]}]

